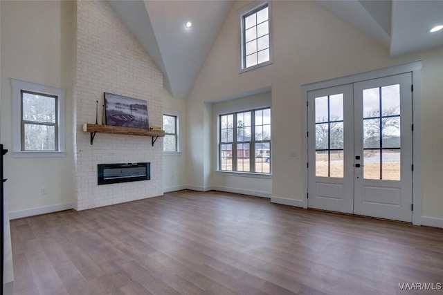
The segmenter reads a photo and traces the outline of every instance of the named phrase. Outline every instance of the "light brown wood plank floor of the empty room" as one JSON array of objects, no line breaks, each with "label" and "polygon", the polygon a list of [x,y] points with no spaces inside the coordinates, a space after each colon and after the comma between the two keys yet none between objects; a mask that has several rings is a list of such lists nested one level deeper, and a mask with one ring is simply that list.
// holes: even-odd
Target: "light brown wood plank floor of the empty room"
[{"label": "light brown wood plank floor of the empty room", "polygon": [[441,229],[232,193],[179,191],[10,225],[17,295],[411,294],[399,283],[443,283]]}]

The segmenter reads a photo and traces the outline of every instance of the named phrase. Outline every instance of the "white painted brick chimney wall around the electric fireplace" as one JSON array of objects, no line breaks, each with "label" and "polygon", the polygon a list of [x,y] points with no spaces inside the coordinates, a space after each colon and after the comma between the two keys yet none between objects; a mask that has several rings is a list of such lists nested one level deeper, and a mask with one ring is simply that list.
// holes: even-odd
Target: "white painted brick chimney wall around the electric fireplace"
[{"label": "white painted brick chimney wall around the electric fireplace", "polygon": [[[93,145],[82,124],[102,123],[103,93],[147,101],[150,126],[163,124],[163,75],[106,1],[77,2],[75,54],[75,177],[78,210],[163,195],[163,139],[97,133]],[[97,184],[97,164],[150,162],[151,180]]]}]

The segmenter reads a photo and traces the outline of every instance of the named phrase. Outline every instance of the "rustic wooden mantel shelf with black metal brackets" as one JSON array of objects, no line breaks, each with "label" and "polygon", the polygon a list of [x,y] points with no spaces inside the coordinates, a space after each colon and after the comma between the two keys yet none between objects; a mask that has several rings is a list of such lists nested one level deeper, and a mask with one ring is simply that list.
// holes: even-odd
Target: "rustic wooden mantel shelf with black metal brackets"
[{"label": "rustic wooden mantel shelf with black metal brackets", "polygon": [[83,124],[83,132],[91,133],[91,144],[93,143],[93,139],[96,136],[96,133],[150,136],[152,137],[153,146],[157,137],[165,136],[165,131],[163,130],[139,129],[139,128],[129,128],[129,127],[120,127],[120,126],[100,125],[100,124],[87,124],[87,123]]}]

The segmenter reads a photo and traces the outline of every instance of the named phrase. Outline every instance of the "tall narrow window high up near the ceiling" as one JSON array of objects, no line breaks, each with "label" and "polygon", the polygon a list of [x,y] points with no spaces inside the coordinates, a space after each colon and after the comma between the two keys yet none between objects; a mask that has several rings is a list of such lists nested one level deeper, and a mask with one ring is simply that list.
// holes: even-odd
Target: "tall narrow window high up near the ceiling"
[{"label": "tall narrow window high up near the ceiling", "polygon": [[242,15],[242,69],[264,66],[271,61],[269,3]]}]

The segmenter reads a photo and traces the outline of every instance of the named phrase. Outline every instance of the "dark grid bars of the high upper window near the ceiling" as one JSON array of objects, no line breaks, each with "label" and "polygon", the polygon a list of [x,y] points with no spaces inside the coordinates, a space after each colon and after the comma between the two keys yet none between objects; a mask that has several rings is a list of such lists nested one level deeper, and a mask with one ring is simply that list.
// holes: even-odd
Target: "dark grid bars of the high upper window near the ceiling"
[{"label": "dark grid bars of the high upper window near the ceiling", "polygon": [[[260,22],[260,23],[257,23],[257,12],[260,12],[261,10],[264,10],[266,8],[268,8],[268,17],[267,17],[267,19],[262,21],[262,22]],[[246,28],[246,18],[250,17],[251,15],[255,15],[255,25]],[[257,26],[259,26],[262,23],[265,23],[266,21],[268,21],[268,33],[264,34],[264,35],[260,35],[260,37],[258,37]],[[264,52],[266,50],[270,50],[271,49],[271,38],[269,37],[269,39],[268,39],[268,47],[263,48],[262,50],[255,50],[253,53],[250,53],[250,54],[246,55],[246,45],[248,43],[251,43],[251,42],[255,41],[256,42],[255,48],[257,49],[258,48],[258,39],[260,39],[260,38],[262,38],[264,36],[270,36],[270,33],[269,33],[269,4],[266,3],[266,4],[264,4],[264,5],[262,5],[262,6],[258,7],[258,8],[255,8],[254,10],[251,10],[251,12],[248,12],[245,15],[243,15],[243,17],[242,17],[242,26],[243,26],[243,30],[242,30],[243,64],[244,64],[244,68],[250,68],[251,66],[257,66],[259,64],[258,63],[258,53],[262,53],[262,52]],[[255,29],[255,38],[246,41],[246,30],[251,30],[252,28]],[[252,55],[256,55],[255,56],[255,64],[252,64],[251,66],[247,66],[246,59],[247,59],[247,57],[251,57]],[[270,59],[271,58],[270,58],[270,53],[269,53],[269,58],[266,61],[269,61]],[[266,61],[262,61],[260,64],[262,64],[262,63],[264,63]]]}]

